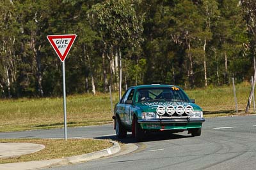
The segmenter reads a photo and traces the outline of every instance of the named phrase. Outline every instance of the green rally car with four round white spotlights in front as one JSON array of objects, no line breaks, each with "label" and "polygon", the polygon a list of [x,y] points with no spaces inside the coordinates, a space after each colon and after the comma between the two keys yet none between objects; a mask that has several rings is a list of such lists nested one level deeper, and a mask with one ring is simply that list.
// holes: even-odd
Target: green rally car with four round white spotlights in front
[{"label": "green rally car with four round white spotlights in front", "polygon": [[130,87],[115,105],[115,131],[118,138],[125,138],[127,131],[137,141],[146,132],[188,131],[200,136],[203,111],[187,94],[174,85],[139,85]]}]

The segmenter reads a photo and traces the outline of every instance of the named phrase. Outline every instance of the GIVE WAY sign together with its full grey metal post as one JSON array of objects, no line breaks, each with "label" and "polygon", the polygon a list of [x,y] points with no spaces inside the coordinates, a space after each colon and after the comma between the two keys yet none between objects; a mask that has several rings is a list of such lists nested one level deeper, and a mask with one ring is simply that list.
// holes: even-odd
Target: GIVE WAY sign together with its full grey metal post
[{"label": "GIVE WAY sign together with its full grey metal post", "polygon": [[64,112],[64,138],[67,141],[67,104],[66,104],[66,81],[65,81],[65,59],[73,45],[76,34],[49,35],[47,39],[62,62],[63,73],[63,112]]}]

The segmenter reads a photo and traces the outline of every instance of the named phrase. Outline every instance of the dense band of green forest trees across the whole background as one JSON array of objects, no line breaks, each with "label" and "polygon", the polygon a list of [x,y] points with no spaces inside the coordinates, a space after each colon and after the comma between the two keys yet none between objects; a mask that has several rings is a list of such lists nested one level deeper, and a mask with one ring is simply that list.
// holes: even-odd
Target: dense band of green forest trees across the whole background
[{"label": "dense band of green forest trees across the whole background", "polygon": [[156,81],[193,88],[249,80],[255,6],[252,0],[0,1],[0,96],[62,93],[50,34],[77,34],[65,60],[68,94]]}]

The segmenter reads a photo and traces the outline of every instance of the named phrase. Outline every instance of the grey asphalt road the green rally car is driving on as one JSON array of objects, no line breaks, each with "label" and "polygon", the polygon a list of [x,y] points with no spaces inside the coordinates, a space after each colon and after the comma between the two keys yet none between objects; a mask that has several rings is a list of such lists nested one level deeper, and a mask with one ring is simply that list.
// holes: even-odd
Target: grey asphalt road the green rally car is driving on
[{"label": "grey asphalt road the green rally car is driving on", "polygon": [[[68,137],[115,139],[113,125],[68,129]],[[63,129],[0,133],[0,138],[63,138]],[[131,135],[123,143],[135,143]],[[202,136],[150,134],[132,153],[51,169],[256,169],[256,116],[207,118]]]}]

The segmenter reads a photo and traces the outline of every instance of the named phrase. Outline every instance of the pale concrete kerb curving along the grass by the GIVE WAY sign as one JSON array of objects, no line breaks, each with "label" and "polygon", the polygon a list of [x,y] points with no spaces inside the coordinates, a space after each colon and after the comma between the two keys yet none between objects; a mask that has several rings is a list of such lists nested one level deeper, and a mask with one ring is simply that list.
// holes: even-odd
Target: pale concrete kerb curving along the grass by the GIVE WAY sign
[{"label": "pale concrete kerb curving along the grass by the GIVE WAY sign", "polygon": [[67,164],[72,164],[77,162],[85,162],[88,160],[98,159],[100,157],[107,157],[109,155],[113,155],[117,152],[120,152],[121,150],[120,145],[116,141],[110,141],[110,142],[113,143],[113,146],[97,152],[86,153],[83,155],[77,155],[77,156],[67,157],[62,159],[37,160],[37,161],[29,161],[29,162],[0,164],[0,169],[6,169],[6,170],[40,169],[44,167],[61,166],[61,165],[67,165]]}]

